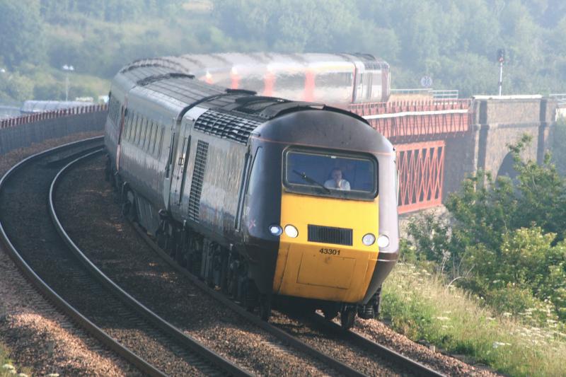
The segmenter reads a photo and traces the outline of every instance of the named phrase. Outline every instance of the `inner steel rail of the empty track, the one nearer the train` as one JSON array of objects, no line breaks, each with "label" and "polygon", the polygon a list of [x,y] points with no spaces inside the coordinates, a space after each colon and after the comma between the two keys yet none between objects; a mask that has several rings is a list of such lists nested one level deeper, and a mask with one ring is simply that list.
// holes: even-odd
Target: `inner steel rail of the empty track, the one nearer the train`
[{"label": "inner steel rail of the empty track, the one nearer the train", "polygon": [[57,216],[57,211],[55,210],[54,205],[54,193],[57,190],[57,186],[61,182],[61,178],[64,177],[71,168],[74,167],[75,164],[81,163],[88,158],[92,158],[96,156],[98,153],[103,152],[103,150],[95,151],[92,153],[88,153],[85,156],[81,156],[76,158],[74,161],[68,163],[64,168],[59,170],[59,173],[55,176],[51,183],[50,192],[49,192],[49,211],[51,219],[54,223],[55,228],[57,228],[57,232],[59,236],[61,236],[64,240],[64,243],[71,249],[71,252],[79,259],[79,261],[88,269],[98,281],[103,284],[107,289],[109,289],[112,294],[120,298],[121,301],[127,303],[128,306],[134,309],[137,313],[144,315],[151,323],[153,323],[156,327],[161,329],[163,332],[166,332],[169,336],[173,337],[175,340],[183,344],[183,346],[192,349],[193,352],[198,354],[201,358],[206,359],[210,364],[213,366],[218,366],[220,369],[224,370],[230,376],[253,376],[250,372],[242,369],[241,367],[233,364],[228,359],[225,359],[224,356],[217,354],[216,352],[212,351],[211,349],[204,346],[201,342],[196,340],[194,337],[190,335],[186,335],[184,332],[179,330],[177,327],[171,325],[166,320],[161,318],[159,315],[151,311],[151,309],[144,306],[144,304],[137,301],[136,298],[132,297],[126,291],[124,291],[120,286],[118,286],[115,282],[113,282],[109,277],[104,274],[96,265],[91,262],[91,260],[86,257],[86,255],[82,252],[82,250],[74,243],[74,241],[69,237],[67,231],[65,231],[64,227],[59,221]]}]

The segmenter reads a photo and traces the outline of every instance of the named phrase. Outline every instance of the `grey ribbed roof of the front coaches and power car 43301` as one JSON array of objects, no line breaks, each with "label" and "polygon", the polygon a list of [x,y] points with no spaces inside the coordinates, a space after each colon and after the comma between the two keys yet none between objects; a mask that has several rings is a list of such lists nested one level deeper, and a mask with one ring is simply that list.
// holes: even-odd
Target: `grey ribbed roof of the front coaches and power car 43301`
[{"label": "grey ribbed roof of the front coaches and power car 43301", "polygon": [[260,124],[299,110],[330,110],[367,123],[358,115],[322,103],[285,100],[255,95],[253,91],[221,88],[199,81],[192,74],[173,66],[168,59],[134,62],[120,70],[115,76],[115,83],[125,86],[127,91],[143,88],[146,95],[151,95],[151,92],[159,94],[161,100],[169,98],[171,103],[182,108],[194,105],[208,108],[208,114],[197,120],[195,128],[243,143],[248,141],[250,133]]}]

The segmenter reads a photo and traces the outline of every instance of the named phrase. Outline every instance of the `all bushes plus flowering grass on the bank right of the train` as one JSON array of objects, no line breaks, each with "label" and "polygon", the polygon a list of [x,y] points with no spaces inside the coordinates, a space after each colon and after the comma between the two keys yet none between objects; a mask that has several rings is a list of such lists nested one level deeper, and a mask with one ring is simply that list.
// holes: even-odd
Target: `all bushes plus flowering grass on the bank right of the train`
[{"label": "all bushes plus flowering grass on the bank right of the train", "polygon": [[[560,132],[563,132],[561,130]],[[384,285],[393,327],[513,376],[558,376],[566,356],[566,178],[545,156],[519,157],[516,177],[478,172],[444,219],[410,221]],[[416,266],[416,267],[415,267]],[[560,356],[562,355],[562,356]]]}]

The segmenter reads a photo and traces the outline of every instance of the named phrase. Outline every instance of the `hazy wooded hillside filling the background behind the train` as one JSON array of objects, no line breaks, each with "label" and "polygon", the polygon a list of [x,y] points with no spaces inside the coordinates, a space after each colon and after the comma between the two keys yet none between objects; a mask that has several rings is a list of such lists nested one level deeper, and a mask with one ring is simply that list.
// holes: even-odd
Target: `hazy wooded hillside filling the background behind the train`
[{"label": "hazy wooded hillside filling the background behind the train", "polygon": [[64,64],[74,98],[105,93],[134,59],[226,51],[368,52],[391,64],[395,88],[426,74],[467,96],[495,93],[505,48],[504,93],[556,93],[565,11],[551,0],[0,0],[0,100],[64,98]]}]

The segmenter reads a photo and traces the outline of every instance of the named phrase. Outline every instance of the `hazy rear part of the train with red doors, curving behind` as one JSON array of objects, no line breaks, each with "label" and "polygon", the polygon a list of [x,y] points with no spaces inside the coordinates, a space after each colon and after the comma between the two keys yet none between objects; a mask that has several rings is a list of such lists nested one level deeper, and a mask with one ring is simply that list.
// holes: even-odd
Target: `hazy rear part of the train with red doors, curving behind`
[{"label": "hazy rear part of the train with red doors, curving behind", "polygon": [[159,59],[207,83],[340,108],[351,103],[386,102],[391,88],[389,64],[371,54],[231,52]]}]

